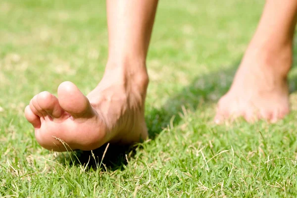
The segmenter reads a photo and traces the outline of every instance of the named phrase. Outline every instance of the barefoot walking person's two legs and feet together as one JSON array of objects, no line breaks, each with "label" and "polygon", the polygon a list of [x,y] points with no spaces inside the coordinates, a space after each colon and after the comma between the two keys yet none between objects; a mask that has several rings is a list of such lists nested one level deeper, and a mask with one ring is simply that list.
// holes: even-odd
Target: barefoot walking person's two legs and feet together
[{"label": "barefoot walking person's two legs and feet together", "polygon": [[[107,0],[108,61],[99,85],[84,96],[73,83],[63,82],[58,98],[42,92],[25,108],[42,147],[91,150],[107,142],[147,139],[146,56],[156,7],[157,0]],[[217,123],[238,116],[275,121],[289,112],[296,13],[297,1],[267,0],[233,84],[218,103]]]}]

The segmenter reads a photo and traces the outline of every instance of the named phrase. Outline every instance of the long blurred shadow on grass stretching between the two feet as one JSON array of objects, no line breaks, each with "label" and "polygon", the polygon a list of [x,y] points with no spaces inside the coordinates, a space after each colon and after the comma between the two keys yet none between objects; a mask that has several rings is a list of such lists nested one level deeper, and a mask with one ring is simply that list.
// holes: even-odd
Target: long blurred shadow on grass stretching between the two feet
[{"label": "long blurred shadow on grass stretching between the two feet", "polygon": [[239,61],[228,69],[197,76],[189,86],[167,99],[161,108],[150,107],[146,116],[150,139],[167,127],[173,116],[173,126],[181,122],[182,107],[196,110],[199,106],[215,103],[229,89]]}]

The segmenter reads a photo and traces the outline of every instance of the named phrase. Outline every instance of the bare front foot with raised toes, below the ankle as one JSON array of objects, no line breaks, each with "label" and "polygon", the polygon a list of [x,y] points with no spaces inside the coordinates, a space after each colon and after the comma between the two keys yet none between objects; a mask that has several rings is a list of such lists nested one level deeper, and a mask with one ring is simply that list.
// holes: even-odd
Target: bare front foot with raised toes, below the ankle
[{"label": "bare front foot with raised toes, below the ankle", "polygon": [[66,150],[59,139],[73,150],[92,150],[107,142],[131,144],[148,137],[147,86],[146,73],[134,79],[119,69],[108,70],[87,97],[73,83],[63,82],[58,98],[49,92],[36,95],[25,115],[37,142],[49,150]]}]

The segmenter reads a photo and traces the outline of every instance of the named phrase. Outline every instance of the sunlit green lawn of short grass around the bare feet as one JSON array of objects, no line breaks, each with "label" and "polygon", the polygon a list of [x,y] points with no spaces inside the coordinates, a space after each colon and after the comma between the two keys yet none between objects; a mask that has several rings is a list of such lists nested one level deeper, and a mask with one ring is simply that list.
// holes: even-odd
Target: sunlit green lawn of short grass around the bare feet
[{"label": "sunlit green lawn of short grass around the bare feet", "polygon": [[[296,197],[297,69],[292,112],[276,124],[216,126],[263,8],[258,0],[161,0],[148,54],[150,139],[130,148],[54,153],[23,109],[72,81],[87,94],[107,57],[103,1],[0,1],[0,196]],[[294,54],[297,56],[297,53]],[[120,151],[119,151],[120,150]]]}]

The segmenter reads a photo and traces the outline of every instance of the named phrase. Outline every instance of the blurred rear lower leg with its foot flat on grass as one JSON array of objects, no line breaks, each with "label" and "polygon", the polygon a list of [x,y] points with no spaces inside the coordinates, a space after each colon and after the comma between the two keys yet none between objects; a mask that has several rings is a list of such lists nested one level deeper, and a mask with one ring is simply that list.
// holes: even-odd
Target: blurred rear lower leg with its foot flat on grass
[{"label": "blurred rear lower leg with its foot flat on grass", "polygon": [[296,0],[266,1],[233,84],[219,100],[216,123],[238,116],[275,122],[289,112],[287,75],[296,21]]}]

